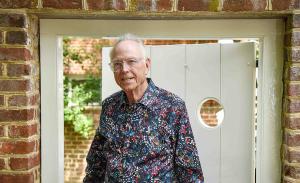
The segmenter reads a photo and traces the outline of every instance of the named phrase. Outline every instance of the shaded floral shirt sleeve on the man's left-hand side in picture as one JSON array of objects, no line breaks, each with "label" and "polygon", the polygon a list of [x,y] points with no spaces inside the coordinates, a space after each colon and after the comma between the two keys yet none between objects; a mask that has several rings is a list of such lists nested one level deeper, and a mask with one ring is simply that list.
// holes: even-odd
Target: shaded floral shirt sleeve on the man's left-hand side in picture
[{"label": "shaded floral shirt sleeve on the man's left-hand side in picture", "polygon": [[[103,116],[103,111],[101,114],[100,124]],[[83,179],[83,183],[101,183],[105,180],[105,170],[106,170],[106,157],[105,157],[105,144],[106,138],[100,133],[100,126],[96,130],[95,137],[91,144],[90,150],[88,152],[86,161],[86,176]]]}]

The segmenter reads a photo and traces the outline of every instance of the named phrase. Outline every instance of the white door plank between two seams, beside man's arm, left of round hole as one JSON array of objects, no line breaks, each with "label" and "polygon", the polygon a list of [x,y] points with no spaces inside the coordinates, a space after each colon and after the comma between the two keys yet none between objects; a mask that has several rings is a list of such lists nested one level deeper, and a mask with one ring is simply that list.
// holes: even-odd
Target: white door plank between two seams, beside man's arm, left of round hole
[{"label": "white door plank between two seams, beside man's arm, left of round hole", "polygon": [[[220,98],[220,45],[186,45],[186,105],[206,182],[220,181],[220,129],[198,120],[198,105],[206,97]],[[209,176],[208,176],[209,175]]]}]

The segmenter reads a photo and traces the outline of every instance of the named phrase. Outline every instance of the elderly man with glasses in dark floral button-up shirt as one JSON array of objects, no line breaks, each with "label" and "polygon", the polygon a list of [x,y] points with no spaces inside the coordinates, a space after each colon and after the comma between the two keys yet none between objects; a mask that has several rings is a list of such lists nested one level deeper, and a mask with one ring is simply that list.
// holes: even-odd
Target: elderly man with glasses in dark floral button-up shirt
[{"label": "elderly man with glasses in dark floral button-up shirt", "polygon": [[84,183],[203,182],[185,103],[147,78],[141,40],[123,36],[111,51],[122,88],[102,103]]}]

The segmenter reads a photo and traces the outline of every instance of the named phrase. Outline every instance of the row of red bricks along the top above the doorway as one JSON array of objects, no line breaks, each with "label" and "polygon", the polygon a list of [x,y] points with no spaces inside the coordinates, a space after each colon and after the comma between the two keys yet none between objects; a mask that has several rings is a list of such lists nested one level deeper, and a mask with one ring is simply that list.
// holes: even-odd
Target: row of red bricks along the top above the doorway
[{"label": "row of red bricks along the top above the doorway", "polygon": [[277,11],[300,8],[299,0],[11,0],[2,9],[83,9],[117,11]]}]

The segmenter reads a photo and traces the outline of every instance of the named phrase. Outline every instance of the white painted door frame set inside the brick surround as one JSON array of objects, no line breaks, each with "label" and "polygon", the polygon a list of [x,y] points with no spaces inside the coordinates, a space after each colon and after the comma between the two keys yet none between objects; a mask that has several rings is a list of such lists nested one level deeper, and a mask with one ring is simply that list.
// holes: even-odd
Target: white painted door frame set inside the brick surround
[{"label": "white painted door frame set inside the brick surround", "polygon": [[[234,20],[40,20],[41,176],[64,181],[63,63],[61,36],[145,38],[259,38],[257,183],[281,181],[281,99],[284,24],[278,19]],[[201,157],[200,157],[201,158]]]}]

